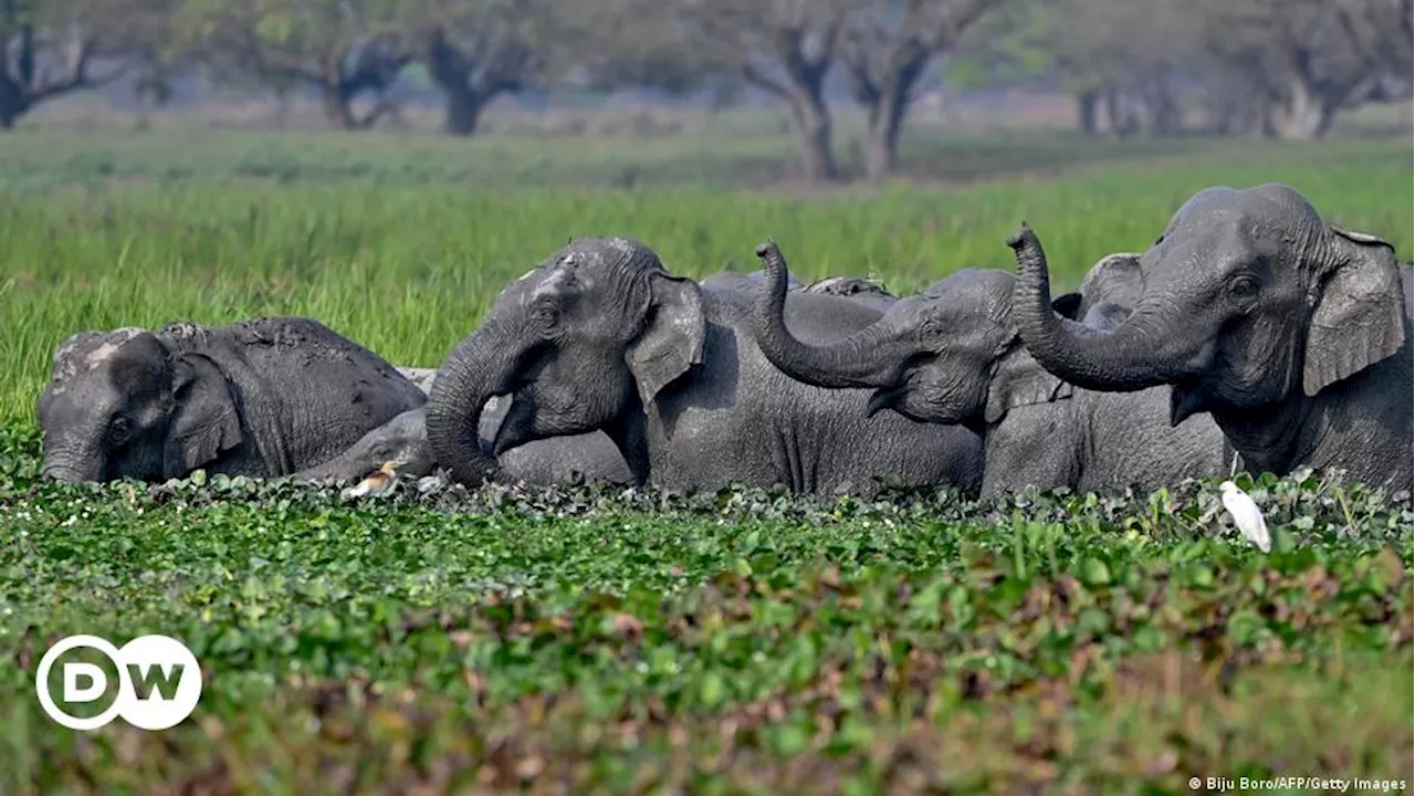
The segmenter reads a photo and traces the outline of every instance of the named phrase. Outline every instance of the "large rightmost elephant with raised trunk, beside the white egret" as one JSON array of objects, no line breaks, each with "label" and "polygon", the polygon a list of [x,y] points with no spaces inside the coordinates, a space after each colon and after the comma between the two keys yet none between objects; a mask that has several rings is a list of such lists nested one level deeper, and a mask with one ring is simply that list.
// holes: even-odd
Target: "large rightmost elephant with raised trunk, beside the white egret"
[{"label": "large rightmost elephant with raised trunk, beside the white egret", "polygon": [[1050,312],[1046,254],[1026,224],[1013,316],[1027,351],[1085,390],[1169,387],[1170,423],[1207,414],[1252,473],[1343,469],[1415,489],[1415,354],[1395,251],[1323,222],[1290,186],[1210,187],[1129,262],[1124,323]]}]

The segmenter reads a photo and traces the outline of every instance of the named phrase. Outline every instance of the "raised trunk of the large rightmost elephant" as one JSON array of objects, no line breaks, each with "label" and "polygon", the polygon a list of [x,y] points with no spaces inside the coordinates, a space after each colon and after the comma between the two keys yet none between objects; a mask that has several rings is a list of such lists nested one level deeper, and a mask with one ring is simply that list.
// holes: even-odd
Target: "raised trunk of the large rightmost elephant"
[{"label": "raised trunk of the large rightmost elephant", "polygon": [[1017,258],[1013,320],[1027,351],[1051,374],[1082,390],[1132,392],[1172,384],[1187,375],[1187,357],[1173,336],[1150,330],[1153,314],[1139,306],[1118,329],[1099,331],[1053,312],[1047,256],[1041,241],[1023,222],[1007,239]]}]

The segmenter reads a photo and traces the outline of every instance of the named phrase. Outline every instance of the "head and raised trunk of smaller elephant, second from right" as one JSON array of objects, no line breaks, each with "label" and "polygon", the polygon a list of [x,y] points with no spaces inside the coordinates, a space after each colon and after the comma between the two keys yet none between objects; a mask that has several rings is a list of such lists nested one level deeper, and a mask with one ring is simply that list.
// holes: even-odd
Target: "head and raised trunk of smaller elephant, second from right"
[{"label": "head and raised trunk of smaller elephant, second from right", "polygon": [[[916,422],[981,431],[1010,408],[1070,395],[1070,385],[1036,365],[1012,322],[1013,276],[965,269],[899,299],[880,320],[832,344],[794,337],[782,320],[785,293],[774,276],[785,261],[758,249],[770,289],[757,305],[757,343],[787,375],[825,388],[872,388],[870,415],[894,409]],[[1064,303],[1080,306],[1074,295]],[[1101,307],[1104,317],[1109,305]]]}]

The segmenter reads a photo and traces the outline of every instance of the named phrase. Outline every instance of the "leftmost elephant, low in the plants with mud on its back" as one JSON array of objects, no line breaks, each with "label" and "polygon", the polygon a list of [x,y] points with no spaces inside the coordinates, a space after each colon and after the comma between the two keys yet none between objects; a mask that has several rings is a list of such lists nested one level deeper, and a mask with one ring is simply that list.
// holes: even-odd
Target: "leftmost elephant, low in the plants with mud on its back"
[{"label": "leftmost elephant, low in the plants with mud on its back", "polygon": [[426,399],[378,354],[306,317],[81,331],[55,350],[38,398],[42,472],[286,476]]}]

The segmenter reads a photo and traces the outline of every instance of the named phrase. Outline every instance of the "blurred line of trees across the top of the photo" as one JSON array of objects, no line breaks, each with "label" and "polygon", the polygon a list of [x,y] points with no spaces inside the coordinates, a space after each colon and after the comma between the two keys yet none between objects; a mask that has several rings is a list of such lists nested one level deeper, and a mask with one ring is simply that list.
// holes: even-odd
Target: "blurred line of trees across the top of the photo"
[{"label": "blurred line of trees across the top of the photo", "polygon": [[839,176],[836,81],[877,180],[931,76],[1065,91],[1087,135],[1322,137],[1405,96],[1415,0],[0,0],[0,127],[120,78],[160,105],[195,72],[314,91],[333,126],[364,130],[415,71],[457,136],[536,88],[754,88],[791,109],[814,180]]}]

